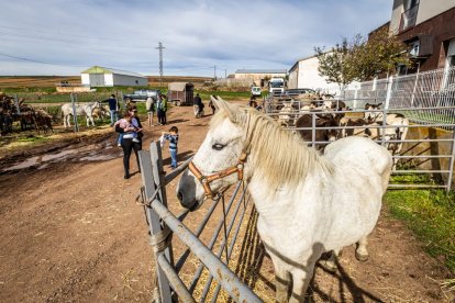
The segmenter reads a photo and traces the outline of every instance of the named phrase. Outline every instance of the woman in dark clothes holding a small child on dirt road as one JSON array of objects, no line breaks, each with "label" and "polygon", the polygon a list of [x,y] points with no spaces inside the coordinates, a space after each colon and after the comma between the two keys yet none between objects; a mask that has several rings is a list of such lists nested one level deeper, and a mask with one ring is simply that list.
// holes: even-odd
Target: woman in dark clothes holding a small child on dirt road
[{"label": "woman in dark clothes holding a small child on dirt road", "polygon": [[130,157],[131,157],[131,152],[134,150],[134,154],[136,155],[136,161],[137,161],[137,169],[138,172],[141,172],[141,166],[140,166],[140,161],[138,161],[138,150],[142,150],[142,137],[143,137],[143,133],[142,133],[142,124],[141,121],[138,119],[138,116],[136,115],[137,113],[137,109],[133,108],[130,110],[130,115],[131,115],[131,126],[126,127],[126,128],[122,128],[120,127],[120,124],[115,125],[115,132],[118,133],[126,133],[126,132],[136,132],[137,133],[137,138],[140,142],[133,142],[133,138],[123,138],[122,139],[122,149],[123,149],[123,168],[124,168],[124,179],[130,179],[131,175],[130,175]]}]

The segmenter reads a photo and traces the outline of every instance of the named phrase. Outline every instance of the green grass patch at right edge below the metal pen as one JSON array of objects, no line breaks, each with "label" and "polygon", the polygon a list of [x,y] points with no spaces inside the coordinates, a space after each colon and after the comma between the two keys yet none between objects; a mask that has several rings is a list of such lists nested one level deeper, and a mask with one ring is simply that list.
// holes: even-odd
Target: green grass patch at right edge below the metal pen
[{"label": "green grass patch at right edge below the metal pen", "polygon": [[385,203],[425,244],[429,255],[455,274],[455,192],[389,190]]}]

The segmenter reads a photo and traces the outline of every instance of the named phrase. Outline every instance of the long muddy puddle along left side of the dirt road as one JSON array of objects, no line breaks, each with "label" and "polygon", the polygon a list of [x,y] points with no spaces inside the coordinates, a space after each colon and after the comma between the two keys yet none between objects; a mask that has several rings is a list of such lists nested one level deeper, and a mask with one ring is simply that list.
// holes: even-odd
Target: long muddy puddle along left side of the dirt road
[{"label": "long muddy puddle along left side of the dirt road", "polygon": [[106,161],[118,158],[122,155],[121,150],[118,153],[104,154],[107,150],[111,152],[114,147],[112,143],[91,144],[78,148],[65,149],[58,153],[46,154],[42,156],[31,157],[22,162],[15,164],[11,167],[2,169],[1,172],[20,170],[36,166],[37,169],[44,169],[49,164],[60,162],[65,160],[71,161]]}]

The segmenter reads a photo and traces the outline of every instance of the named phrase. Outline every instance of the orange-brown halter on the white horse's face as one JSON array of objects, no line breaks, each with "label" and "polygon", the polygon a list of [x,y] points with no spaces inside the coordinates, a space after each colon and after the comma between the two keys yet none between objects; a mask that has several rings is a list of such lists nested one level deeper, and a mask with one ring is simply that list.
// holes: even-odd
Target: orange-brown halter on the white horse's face
[{"label": "orange-brown halter on the white horse's face", "polygon": [[235,166],[231,166],[226,169],[223,169],[221,171],[218,171],[215,173],[208,175],[208,176],[202,175],[202,172],[195,166],[195,164],[192,161],[189,162],[188,169],[192,172],[192,175],[195,175],[195,177],[199,180],[199,182],[201,182],[201,184],[203,187],[203,191],[206,193],[206,197],[213,199],[213,198],[215,198],[215,194],[213,193],[212,189],[210,188],[210,183],[213,182],[214,180],[225,178],[225,177],[231,176],[233,173],[237,173],[237,180],[242,181],[243,176],[244,176],[243,175],[243,169],[245,167],[246,157],[247,157],[247,153],[242,152],[242,154],[241,154],[241,156],[237,160],[237,164]]}]

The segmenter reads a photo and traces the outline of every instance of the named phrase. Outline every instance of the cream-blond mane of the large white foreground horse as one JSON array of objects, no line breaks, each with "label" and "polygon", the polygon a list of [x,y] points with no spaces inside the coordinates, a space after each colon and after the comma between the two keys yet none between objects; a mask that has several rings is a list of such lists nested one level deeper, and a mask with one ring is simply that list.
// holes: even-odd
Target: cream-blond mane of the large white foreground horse
[{"label": "cream-blond mane of the large white foreground horse", "polygon": [[247,130],[245,137],[249,142],[246,144],[251,148],[247,161],[260,170],[271,192],[285,182],[292,187],[302,183],[315,169],[325,176],[332,175],[333,165],[329,160],[309,148],[298,135],[280,127],[271,117],[246,105],[230,104],[230,108],[233,109],[230,113],[220,110],[210,125],[215,127],[228,117]]}]

